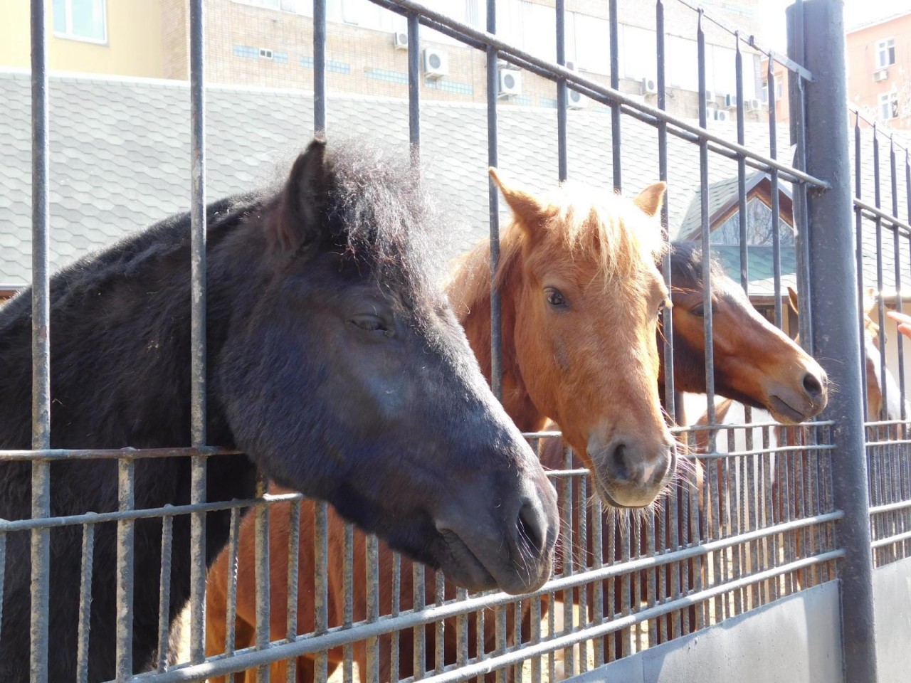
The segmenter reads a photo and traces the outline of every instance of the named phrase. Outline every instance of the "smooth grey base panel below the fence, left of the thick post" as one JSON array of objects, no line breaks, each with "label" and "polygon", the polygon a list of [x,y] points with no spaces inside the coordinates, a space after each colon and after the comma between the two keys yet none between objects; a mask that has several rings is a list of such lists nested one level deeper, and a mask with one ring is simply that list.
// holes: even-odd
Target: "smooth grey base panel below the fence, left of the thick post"
[{"label": "smooth grey base panel below the fence, left of the thick post", "polygon": [[838,604],[838,582],[830,581],[568,680],[843,683]]}]

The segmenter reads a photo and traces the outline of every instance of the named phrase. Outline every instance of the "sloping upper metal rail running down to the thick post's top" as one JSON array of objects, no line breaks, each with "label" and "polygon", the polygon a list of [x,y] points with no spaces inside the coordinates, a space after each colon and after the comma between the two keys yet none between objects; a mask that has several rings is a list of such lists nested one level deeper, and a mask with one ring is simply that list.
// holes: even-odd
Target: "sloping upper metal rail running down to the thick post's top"
[{"label": "sloping upper metal rail running down to the thick post's top", "polygon": [[[695,140],[713,143],[714,146],[719,148],[718,151],[721,151],[722,149],[729,151],[732,153],[732,158],[742,157],[748,161],[752,159],[753,162],[763,165],[763,168],[769,170],[774,168],[785,174],[789,179],[793,179],[795,182],[806,183],[813,186],[815,189],[829,189],[829,184],[820,178],[815,178],[814,176],[804,173],[804,171],[797,168],[793,168],[788,164],[784,164],[777,159],[766,157],[750,148],[731,142],[722,136],[709,132],[705,128],[687,123],[680,118],[668,114],[662,109],[650,107],[649,105],[637,101],[626,93],[622,93],[612,87],[603,86],[596,81],[589,80],[589,78],[581,76],[577,71],[571,71],[566,66],[559,66],[553,62],[548,62],[546,59],[540,59],[530,55],[524,50],[518,49],[516,46],[503,42],[496,36],[486,33],[486,31],[480,31],[473,26],[463,24],[449,16],[442,15],[429,9],[428,7],[425,7],[425,5],[412,2],[412,0],[370,1],[374,3],[374,5],[384,6],[399,15],[416,14],[422,24],[434,28],[435,30],[441,30],[441,27],[445,27],[449,30],[444,31],[444,33],[460,42],[468,43],[476,47],[493,47],[499,53],[499,56],[507,62],[516,64],[517,66],[524,66],[529,68],[529,70],[534,70],[538,75],[547,77],[550,80],[556,81],[558,79],[564,79],[568,86],[574,87],[574,89],[578,90],[578,92],[583,95],[588,95],[589,97],[594,97],[601,101],[619,103],[624,107],[624,113],[647,115],[654,124],[657,124],[658,122],[667,124],[669,126],[668,132],[672,135],[681,137],[679,135],[680,132],[689,134]],[[468,38],[468,40],[466,40],[466,38]],[[535,68],[532,69],[531,67]]]}]

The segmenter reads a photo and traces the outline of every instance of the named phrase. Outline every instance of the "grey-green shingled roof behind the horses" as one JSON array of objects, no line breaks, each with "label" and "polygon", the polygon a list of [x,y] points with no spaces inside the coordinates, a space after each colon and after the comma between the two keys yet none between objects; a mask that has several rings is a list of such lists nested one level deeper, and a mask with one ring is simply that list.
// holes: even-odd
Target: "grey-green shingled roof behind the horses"
[{"label": "grey-green shingled roof behind the horses", "polygon": [[[87,250],[106,246],[169,213],[188,209],[186,83],[51,76],[49,94],[52,267],[63,266]],[[29,76],[0,73],[0,101],[4,102],[4,116],[0,117],[0,284],[22,285],[30,278],[31,262]],[[330,138],[379,138],[403,149],[407,144],[404,100],[330,95],[327,109]],[[425,101],[421,115],[426,177],[460,218],[446,246],[452,253],[445,256],[455,256],[487,234],[486,107]],[[210,199],[217,199],[271,182],[288,167],[311,137],[312,94],[210,87],[207,123],[207,193]],[[730,122],[711,122],[711,126],[726,137],[735,137]],[[537,190],[555,184],[555,109],[500,107],[498,137],[498,166],[510,178]],[[746,143],[767,152],[767,125],[748,124]],[[780,131],[778,148],[788,148],[786,130]],[[611,149],[610,119],[604,107],[568,113],[571,178],[608,191]],[[625,192],[635,194],[658,178],[654,128],[623,117],[620,150]],[[673,234],[698,188],[698,147],[669,136],[668,164]],[[733,175],[734,161],[711,155],[710,182]],[[886,191],[884,205],[889,201]],[[906,281],[911,282],[911,276]]]}]

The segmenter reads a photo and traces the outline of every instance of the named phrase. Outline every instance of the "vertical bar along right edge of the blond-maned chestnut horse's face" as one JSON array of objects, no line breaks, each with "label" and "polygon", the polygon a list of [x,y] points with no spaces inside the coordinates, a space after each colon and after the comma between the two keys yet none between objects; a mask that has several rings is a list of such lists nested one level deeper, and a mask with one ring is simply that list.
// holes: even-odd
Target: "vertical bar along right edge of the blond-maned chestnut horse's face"
[{"label": "vertical bar along right edge of the blond-maned chestnut horse's face", "polygon": [[[667,108],[668,94],[666,90],[664,76],[664,3],[658,0],[655,3],[655,36],[656,36],[656,64],[658,67],[658,108],[664,111]],[[664,120],[658,121],[658,178],[664,182],[668,181],[668,124]],[[661,202],[661,225],[668,224],[668,198],[665,193],[664,201]],[[670,241],[670,233],[665,228],[666,239]],[[661,262],[661,271],[664,276],[664,284],[670,291],[671,274],[670,274],[670,250],[664,255]],[[661,331],[664,338],[664,410],[675,422],[682,422],[682,414],[677,413],[677,405],[674,395],[674,320],[673,311],[665,308],[661,313]],[[682,406],[681,406],[682,411]],[[672,496],[671,496],[672,497]],[[663,575],[666,571],[665,566],[660,567],[660,573]],[[595,647],[599,647],[599,641]]]}]

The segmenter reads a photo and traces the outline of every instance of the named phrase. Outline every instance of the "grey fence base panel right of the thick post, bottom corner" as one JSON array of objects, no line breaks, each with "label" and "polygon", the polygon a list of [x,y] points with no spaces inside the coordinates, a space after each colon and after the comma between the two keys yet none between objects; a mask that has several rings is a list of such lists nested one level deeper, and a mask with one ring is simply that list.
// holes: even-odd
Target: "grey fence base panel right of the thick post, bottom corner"
[{"label": "grey fence base panel right of the thick post, bottom corner", "polygon": [[911,638],[911,558],[874,571],[873,599],[879,683],[905,683]]}]

